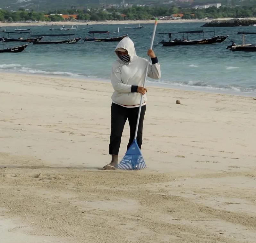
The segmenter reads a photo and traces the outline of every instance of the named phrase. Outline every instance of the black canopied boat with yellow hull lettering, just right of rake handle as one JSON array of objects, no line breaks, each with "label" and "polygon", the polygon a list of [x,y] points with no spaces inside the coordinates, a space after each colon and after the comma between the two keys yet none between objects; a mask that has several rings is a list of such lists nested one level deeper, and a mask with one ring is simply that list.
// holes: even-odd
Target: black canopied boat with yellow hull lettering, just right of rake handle
[{"label": "black canopied boat with yellow hull lettering, just right of rake handle", "polygon": [[[214,37],[205,39],[204,38],[204,33],[207,32],[214,32]],[[188,39],[188,34],[195,34],[199,33],[200,39],[199,40],[189,40]],[[201,39],[201,33],[203,33],[203,39]],[[215,36],[215,31],[203,31],[203,30],[192,30],[192,31],[179,31],[179,32],[174,32],[174,33],[160,33],[160,34],[168,34],[170,40],[169,41],[164,41],[162,40],[158,44],[162,44],[163,46],[173,46],[173,45],[197,45],[197,44],[212,44],[216,42],[216,40],[220,37],[220,35]],[[172,34],[183,34],[183,39],[177,39],[175,38],[174,40],[171,39]],[[184,34],[187,34],[187,38],[184,38]]]}]

